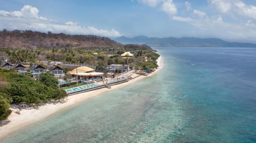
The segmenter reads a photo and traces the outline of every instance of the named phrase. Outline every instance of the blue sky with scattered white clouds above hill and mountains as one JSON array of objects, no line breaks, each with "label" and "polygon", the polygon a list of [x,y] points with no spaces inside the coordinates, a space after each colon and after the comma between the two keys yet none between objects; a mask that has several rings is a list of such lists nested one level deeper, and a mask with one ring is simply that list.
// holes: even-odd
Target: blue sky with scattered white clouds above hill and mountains
[{"label": "blue sky with scattered white clouds above hill and mountains", "polygon": [[256,43],[255,0],[0,1],[0,30]]}]

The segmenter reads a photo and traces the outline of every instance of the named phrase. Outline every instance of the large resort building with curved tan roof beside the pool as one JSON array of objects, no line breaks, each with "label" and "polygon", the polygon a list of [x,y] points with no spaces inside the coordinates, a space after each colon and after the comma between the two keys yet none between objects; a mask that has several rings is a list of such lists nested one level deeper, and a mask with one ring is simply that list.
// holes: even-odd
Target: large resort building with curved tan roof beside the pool
[{"label": "large resort building with curved tan roof beside the pool", "polygon": [[104,76],[104,73],[95,72],[94,69],[86,66],[75,68],[74,70],[68,72],[68,74],[84,80],[101,80]]}]

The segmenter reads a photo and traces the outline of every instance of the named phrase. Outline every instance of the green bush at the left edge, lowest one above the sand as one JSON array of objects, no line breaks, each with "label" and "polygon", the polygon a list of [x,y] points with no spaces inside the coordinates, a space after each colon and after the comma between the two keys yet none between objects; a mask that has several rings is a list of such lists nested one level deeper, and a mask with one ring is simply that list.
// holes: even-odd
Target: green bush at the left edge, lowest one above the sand
[{"label": "green bush at the left edge, lowest one above the sand", "polygon": [[0,95],[0,121],[6,119],[12,111],[8,101]]}]

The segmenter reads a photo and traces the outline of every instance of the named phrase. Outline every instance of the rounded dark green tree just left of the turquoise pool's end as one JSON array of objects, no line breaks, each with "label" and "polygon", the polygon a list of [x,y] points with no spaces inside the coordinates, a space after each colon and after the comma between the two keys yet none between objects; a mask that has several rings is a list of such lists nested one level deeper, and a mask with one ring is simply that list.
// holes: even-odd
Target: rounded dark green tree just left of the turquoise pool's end
[{"label": "rounded dark green tree just left of the turquoise pool's end", "polygon": [[47,87],[50,87],[53,89],[57,88],[58,80],[52,74],[49,74],[49,73],[40,74],[38,80],[43,84],[45,84]]}]

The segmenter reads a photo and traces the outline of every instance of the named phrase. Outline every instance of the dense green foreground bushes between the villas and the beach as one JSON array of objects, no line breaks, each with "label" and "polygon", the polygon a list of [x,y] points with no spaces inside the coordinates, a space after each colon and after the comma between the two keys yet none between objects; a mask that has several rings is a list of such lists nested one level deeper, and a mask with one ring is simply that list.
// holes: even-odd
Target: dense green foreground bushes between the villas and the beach
[{"label": "dense green foreground bushes between the villas and the beach", "polygon": [[67,96],[63,89],[57,88],[57,79],[48,73],[36,81],[30,76],[0,69],[0,80],[0,120],[10,114],[10,103],[38,105]]}]

